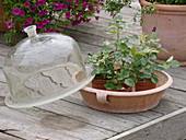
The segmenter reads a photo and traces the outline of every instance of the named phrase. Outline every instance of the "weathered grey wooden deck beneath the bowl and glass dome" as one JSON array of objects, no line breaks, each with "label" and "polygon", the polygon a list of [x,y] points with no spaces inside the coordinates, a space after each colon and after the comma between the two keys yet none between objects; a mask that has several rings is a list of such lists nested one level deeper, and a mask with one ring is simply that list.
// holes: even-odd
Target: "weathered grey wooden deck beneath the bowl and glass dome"
[{"label": "weathered grey wooden deck beneath the bowl and glass dome", "polygon": [[[139,8],[123,9],[127,21]],[[104,39],[114,36],[105,34],[111,18],[101,13],[98,21],[68,28],[78,40],[83,57],[90,51],[100,50]],[[137,23],[123,35],[141,34]],[[112,114],[89,108],[82,103],[80,93],[50,104],[12,109],[4,105],[9,93],[2,73],[4,56],[11,49],[0,34],[0,140],[185,140],[186,139],[186,68],[171,69],[167,72],[174,83],[165,91],[160,104],[148,112],[137,114]]]}]

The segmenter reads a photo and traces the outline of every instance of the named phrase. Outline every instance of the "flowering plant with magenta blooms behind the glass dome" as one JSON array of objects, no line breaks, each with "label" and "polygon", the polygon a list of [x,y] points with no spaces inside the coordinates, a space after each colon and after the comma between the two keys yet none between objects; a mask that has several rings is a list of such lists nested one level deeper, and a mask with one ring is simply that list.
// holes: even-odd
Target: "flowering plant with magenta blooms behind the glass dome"
[{"label": "flowering plant with magenta blooms behind the glass dome", "polygon": [[98,20],[103,0],[3,0],[4,21],[9,33],[8,43],[16,39],[16,31],[35,24],[37,31],[63,32],[61,26],[90,22],[90,16]]}]

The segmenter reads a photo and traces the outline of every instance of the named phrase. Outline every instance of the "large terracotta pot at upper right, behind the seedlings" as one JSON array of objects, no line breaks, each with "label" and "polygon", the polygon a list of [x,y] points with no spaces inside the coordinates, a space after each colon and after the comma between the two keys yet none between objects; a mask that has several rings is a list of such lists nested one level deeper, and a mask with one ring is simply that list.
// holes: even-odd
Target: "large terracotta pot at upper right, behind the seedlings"
[{"label": "large terracotta pot at upper right, behind the seedlings", "polygon": [[[139,0],[141,7],[152,4]],[[162,46],[168,51],[160,52],[159,59],[166,60],[170,56],[186,66],[186,5],[154,4],[156,13],[143,14],[142,31],[147,34],[155,26]]]}]

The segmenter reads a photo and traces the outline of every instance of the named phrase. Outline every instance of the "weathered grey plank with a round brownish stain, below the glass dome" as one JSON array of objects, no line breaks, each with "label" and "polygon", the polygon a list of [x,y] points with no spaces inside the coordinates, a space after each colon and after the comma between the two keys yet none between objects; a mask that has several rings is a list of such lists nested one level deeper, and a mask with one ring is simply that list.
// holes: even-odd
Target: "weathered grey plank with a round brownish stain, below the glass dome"
[{"label": "weathered grey plank with a round brownish stain, below the glass dome", "polygon": [[[69,114],[69,116],[80,118],[80,116],[73,114]],[[0,130],[7,129],[7,132],[25,138],[26,140],[35,140],[37,138],[51,140],[60,140],[61,138],[67,140],[94,140],[94,137],[102,140],[107,136],[114,135],[113,131],[78,121],[69,116],[37,108],[13,110],[1,105]],[[86,118],[81,119],[86,120]]]}]

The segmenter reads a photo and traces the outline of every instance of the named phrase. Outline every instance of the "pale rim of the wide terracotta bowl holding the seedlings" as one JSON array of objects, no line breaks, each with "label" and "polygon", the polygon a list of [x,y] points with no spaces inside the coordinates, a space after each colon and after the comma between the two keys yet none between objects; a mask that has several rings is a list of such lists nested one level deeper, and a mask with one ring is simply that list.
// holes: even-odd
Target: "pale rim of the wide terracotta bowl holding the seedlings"
[{"label": "pale rim of the wide terracotta bowl holding the seedlings", "polygon": [[[160,71],[159,71],[160,72]],[[86,91],[86,92],[91,92],[91,93],[96,93],[96,94],[104,94],[104,95],[112,95],[112,96],[142,96],[142,95],[149,95],[149,94],[153,94],[156,92],[161,92],[164,91],[165,89],[167,89],[172,83],[173,83],[173,79],[170,74],[167,74],[164,71],[161,71],[160,73],[163,73],[164,75],[166,75],[167,81],[155,89],[152,90],[147,90],[147,91],[139,91],[139,92],[113,92],[113,91],[105,91],[105,90],[97,90],[97,89],[93,89],[93,88],[89,88],[85,86],[82,90]]]}]

